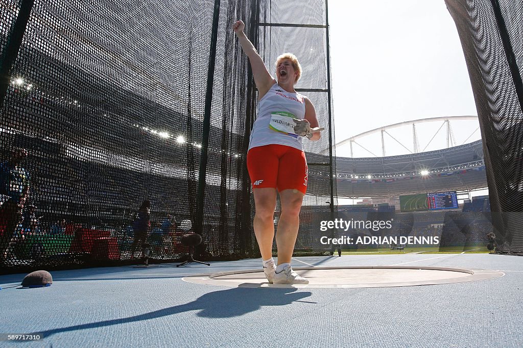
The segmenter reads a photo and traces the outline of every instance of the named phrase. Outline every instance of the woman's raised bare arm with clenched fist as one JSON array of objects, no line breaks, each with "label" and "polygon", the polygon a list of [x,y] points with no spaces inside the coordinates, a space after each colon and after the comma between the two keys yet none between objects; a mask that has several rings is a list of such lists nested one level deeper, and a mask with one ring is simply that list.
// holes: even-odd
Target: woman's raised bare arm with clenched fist
[{"label": "woman's raised bare arm with clenched fist", "polygon": [[243,29],[245,29],[245,24],[241,20],[238,20],[233,26],[234,33],[238,37],[238,40],[240,40],[243,52],[245,52],[249,58],[249,62],[251,62],[254,82],[258,88],[258,99],[261,99],[261,97],[267,94],[272,85],[276,83],[276,80],[270,76],[263,59],[261,59],[254,45],[243,32]]}]

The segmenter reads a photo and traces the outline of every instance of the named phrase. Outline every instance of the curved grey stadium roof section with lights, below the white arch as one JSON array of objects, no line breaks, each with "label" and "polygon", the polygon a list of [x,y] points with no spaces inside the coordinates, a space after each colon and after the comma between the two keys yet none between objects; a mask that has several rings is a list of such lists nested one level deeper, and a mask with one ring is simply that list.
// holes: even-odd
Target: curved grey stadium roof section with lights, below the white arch
[{"label": "curved grey stadium roof section with lights, below the white arch", "polygon": [[370,158],[336,158],[339,197],[398,197],[487,187],[483,144]]}]

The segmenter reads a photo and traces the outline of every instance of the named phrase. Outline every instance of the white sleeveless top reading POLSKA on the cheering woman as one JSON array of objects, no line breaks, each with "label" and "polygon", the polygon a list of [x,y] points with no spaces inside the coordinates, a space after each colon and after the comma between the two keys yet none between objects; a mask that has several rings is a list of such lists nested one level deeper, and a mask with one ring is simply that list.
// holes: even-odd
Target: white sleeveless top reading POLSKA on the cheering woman
[{"label": "white sleeveless top reading POLSKA on the cheering woman", "polygon": [[303,151],[302,137],[293,134],[290,118],[305,118],[305,100],[300,93],[290,93],[278,83],[272,85],[258,103],[249,150],[258,146],[278,144]]}]

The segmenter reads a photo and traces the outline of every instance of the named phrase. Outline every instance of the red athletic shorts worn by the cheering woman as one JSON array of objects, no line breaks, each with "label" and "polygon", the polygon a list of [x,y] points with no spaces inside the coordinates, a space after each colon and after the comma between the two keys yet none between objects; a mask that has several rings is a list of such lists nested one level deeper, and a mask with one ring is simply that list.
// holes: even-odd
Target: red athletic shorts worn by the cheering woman
[{"label": "red athletic shorts worn by the cheering woman", "polygon": [[265,145],[247,152],[253,188],[296,189],[305,194],[308,167],[305,152],[285,145]]}]

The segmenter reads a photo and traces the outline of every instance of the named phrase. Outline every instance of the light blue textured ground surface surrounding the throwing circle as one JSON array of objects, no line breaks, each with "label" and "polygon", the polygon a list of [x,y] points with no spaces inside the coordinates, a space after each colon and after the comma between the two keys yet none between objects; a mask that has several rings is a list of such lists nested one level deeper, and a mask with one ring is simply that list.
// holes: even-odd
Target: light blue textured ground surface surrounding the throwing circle
[{"label": "light blue textured ground surface surrounding the throwing circle", "polygon": [[[523,258],[488,254],[298,257],[293,267],[490,269],[501,278],[356,289],[188,283],[198,273],[260,267],[260,259],[176,268],[54,271],[53,285],[0,291],[1,334],[40,333],[19,347],[520,347]],[[25,274],[0,276],[0,286]],[[2,337],[4,338],[4,337]]]}]

